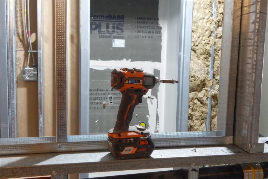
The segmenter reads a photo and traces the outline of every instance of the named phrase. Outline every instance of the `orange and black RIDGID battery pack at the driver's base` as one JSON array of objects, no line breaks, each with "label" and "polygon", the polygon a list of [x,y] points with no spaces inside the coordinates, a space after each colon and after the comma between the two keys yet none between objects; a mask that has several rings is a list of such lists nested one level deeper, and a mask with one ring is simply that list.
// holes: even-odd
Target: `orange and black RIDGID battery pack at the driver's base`
[{"label": "orange and black RIDGID battery pack at the driver's base", "polygon": [[127,132],[108,131],[108,148],[116,159],[149,157],[155,149],[150,132],[143,126],[129,126]]}]

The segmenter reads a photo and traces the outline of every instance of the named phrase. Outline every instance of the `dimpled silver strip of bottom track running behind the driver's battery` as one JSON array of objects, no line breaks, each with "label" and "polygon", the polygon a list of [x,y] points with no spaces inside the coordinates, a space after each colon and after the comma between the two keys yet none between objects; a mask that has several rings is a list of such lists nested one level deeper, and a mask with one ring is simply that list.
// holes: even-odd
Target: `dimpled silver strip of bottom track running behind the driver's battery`
[{"label": "dimpled silver strip of bottom track running behind the driver's battery", "polygon": [[[216,131],[200,131],[200,132],[159,132],[152,133],[152,138],[199,138],[199,137],[215,137]],[[68,142],[85,142],[85,141],[106,141],[107,134],[97,135],[70,135]],[[1,145],[16,144],[34,144],[34,143],[55,143],[56,136],[51,137],[28,137],[28,138],[2,138]]]}]

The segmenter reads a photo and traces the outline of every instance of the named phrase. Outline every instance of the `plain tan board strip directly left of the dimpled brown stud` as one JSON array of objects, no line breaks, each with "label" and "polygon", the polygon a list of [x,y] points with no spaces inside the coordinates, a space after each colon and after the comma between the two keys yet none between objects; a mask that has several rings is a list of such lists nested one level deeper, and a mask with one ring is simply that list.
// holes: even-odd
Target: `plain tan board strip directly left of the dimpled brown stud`
[{"label": "plain tan board strip directly left of the dimpled brown stud", "polygon": [[56,135],[55,1],[43,1],[43,100],[44,135]]}]

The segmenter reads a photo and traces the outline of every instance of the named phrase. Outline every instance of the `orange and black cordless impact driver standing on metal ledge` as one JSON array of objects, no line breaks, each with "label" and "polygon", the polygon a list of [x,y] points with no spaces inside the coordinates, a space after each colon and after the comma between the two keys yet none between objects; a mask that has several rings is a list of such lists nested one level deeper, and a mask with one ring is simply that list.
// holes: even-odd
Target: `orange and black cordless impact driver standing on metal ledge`
[{"label": "orange and black cordless impact driver standing on metal ledge", "polygon": [[143,126],[129,126],[134,108],[142,96],[158,83],[178,83],[160,80],[153,73],[135,68],[116,68],[111,74],[111,87],[122,93],[116,124],[108,131],[108,148],[116,159],[148,157],[155,149],[150,132]]}]

